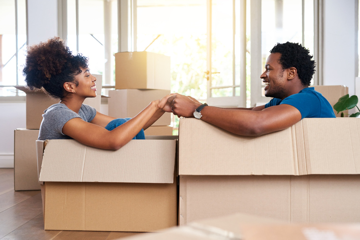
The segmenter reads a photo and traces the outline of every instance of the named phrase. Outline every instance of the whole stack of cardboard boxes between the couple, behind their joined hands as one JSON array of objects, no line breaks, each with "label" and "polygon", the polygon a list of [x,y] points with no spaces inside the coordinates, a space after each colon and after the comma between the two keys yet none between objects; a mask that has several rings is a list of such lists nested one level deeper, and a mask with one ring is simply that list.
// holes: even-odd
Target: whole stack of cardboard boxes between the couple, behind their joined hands
[{"label": "whole stack of cardboard boxes between the couple, behind their joined hands", "polygon": [[[170,93],[170,57],[150,52],[115,54],[116,90],[109,91],[109,116],[134,117],[151,101]],[[164,113],[145,135],[172,135],[170,113]]]}]

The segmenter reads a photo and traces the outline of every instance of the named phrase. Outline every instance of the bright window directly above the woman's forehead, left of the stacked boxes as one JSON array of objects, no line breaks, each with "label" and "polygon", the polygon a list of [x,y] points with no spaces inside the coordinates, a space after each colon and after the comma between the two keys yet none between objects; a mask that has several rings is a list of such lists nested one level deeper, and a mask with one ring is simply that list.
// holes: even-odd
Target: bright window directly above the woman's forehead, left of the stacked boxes
[{"label": "bright window directly above the woman's forehead, left of the stacked boxes", "polygon": [[118,1],[67,0],[66,9],[63,15],[67,16],[66,37],[70,50],[89,57],[92,74],[103,75],[103,91],[115,86]]}]

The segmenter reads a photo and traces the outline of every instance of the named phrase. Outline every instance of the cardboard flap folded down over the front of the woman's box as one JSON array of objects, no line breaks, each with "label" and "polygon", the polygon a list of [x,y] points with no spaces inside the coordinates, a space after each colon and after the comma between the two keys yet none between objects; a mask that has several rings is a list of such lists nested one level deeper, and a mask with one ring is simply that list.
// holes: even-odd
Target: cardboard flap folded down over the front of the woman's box
[{"label": "cardboard flap folded down over the front of the woman's box", "polygon": [[176,140],[132,140],[117,151],[49,140],[40,181],[173,183],[175,148]]}]

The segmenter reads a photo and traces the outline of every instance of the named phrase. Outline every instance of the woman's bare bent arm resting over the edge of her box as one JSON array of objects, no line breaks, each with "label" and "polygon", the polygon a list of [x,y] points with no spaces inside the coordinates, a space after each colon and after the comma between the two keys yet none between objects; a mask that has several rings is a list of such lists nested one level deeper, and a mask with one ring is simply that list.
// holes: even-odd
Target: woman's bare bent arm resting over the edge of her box
[{"label": "woman's bare bent arm resting over the edge of her box", "polygon": [[108,120],[114,119],[111,117],[107,118],[108,116],[101,114],[97,119],[94,118],[94,123],[85,122],[81,118],[73,118],[65,123],[62,132],[80,143],[91,147],[117,150],[128,143],[145,126],[159,107],[159,100],[152,101],[135,117],[112,131],[94,124],[97,122],[104,125]]}]

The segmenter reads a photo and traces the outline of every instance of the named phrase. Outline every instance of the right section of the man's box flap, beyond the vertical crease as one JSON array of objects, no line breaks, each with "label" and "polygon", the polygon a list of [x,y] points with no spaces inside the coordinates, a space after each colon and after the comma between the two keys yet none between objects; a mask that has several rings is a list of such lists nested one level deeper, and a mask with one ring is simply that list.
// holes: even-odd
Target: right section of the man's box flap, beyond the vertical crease
[{"label": "right section of the man's box flap, beyond the vertical crease", "polygon": [[360,174],[359,118],[307,118],[298,124],[308,174]]}]

